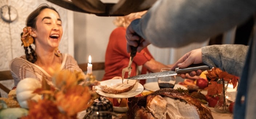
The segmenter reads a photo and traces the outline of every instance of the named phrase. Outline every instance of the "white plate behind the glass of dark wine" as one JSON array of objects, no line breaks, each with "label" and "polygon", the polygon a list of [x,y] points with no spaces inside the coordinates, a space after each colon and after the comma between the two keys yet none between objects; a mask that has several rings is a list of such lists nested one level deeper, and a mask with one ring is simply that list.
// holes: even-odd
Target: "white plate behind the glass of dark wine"
[{"label": "white plate behind the glass of dark wine", "polygon": [[[149,91],[157,91],[160,88],[158,87],[158,83],[157,82],[150,82],[150,83],[146,83],[143,85],[145,89],[149,90]],[[187,87],[180,85],[180,84],[175,84],[174,85],[174,89],[177,88],[183,88],[183,89],[187,89]]]}]

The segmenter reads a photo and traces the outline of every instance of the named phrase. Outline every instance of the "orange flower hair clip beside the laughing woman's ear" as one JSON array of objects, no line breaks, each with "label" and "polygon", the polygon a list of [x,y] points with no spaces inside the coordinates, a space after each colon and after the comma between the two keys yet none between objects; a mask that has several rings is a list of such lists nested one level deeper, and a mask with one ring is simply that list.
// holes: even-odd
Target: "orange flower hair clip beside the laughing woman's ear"
[{"label": "orange flower hair clip beside the laughing woman's ear", "polygon": [[23,42],[24,47],[29,47],[29,45],[34,42],[31,34],[32,28],[30,26],[23,28],[23,35],[21,36],[21,41]]}]

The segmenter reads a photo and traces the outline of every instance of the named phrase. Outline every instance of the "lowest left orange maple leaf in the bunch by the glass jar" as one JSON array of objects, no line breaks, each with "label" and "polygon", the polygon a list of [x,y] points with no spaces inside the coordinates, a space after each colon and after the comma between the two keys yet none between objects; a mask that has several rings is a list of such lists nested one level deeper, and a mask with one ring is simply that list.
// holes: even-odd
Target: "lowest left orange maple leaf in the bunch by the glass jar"
[{"label": "lowest left orange maple leaf in the bunch by the glass jar", "polygon": [[210,81],[211,84],[208,85],[208,87],[204,88],[207,91],[207,95],[215,95],[215,94],[219,94],[222,92],[223,89],[223,85],[222,84],[218,84],[216,81]]}]

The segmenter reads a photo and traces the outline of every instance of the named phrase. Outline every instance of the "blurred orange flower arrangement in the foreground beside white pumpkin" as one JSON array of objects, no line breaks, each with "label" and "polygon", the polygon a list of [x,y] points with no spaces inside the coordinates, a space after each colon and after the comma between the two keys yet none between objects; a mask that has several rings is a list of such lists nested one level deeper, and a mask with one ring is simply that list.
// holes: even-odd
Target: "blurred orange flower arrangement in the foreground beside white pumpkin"
[{"label": "blurred orange flower arrangement in the foreground beside white pumpkin", "polygon": [[29,100],[29,114],[21,119],[76,119],[77,113],[92,103],[89,87],[79,85],[83,78],[76,71],[58,71],[53,76],[57,88],[43,79],[42,87],[34,91],[43,95],[42,100]]}]

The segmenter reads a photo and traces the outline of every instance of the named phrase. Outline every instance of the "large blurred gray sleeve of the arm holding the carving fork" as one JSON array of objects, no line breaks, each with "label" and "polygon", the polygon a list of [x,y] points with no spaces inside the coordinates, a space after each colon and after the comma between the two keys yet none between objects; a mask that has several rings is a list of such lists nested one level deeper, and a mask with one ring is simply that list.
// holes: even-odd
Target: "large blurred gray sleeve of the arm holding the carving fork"
[{"label": "large blurred gray sleeve of the arm holding the carving fork", "polygon": [[223,33],[255,11],[256,0],[158,0],[131,27],[157,47],[180,47]]}]

